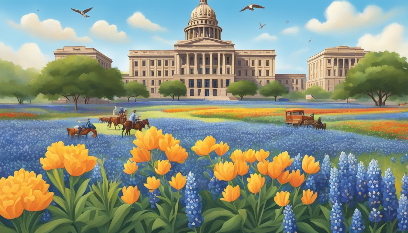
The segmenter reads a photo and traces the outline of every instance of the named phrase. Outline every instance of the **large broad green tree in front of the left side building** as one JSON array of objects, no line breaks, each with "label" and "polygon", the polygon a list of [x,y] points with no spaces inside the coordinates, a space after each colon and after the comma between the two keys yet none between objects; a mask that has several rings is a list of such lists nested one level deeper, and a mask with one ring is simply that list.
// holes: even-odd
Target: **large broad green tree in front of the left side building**
[{"label": "large broad green tree in front of the left side building", "polygon": [[90,98],[108,98],[124,92],[122,74],[117,68],[104,69],[98,60],[88,56],[69,55],[49,62],[35,80],[37,92],[54,97],[62,95],[75,103],[80,96],[85,103]]}]

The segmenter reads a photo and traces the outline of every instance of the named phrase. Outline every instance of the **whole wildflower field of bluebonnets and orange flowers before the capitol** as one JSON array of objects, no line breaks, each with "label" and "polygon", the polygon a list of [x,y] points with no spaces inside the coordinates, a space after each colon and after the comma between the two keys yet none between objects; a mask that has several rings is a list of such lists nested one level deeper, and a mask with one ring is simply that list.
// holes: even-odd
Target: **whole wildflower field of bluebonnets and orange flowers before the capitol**
[{"label": "whole wildflower field of bluebonnets and orange flowers before the capitol", "polygon": [[[406,108],[220,105],[133,104],[151,128],[123,138],[96,123],[112,105],[4,107],[38,117],[0,120],[0,232],[408,232]],[[262,105],[308,109],[328,130],[194,116]],[[71,140],[85,115],[98,137]]]}]

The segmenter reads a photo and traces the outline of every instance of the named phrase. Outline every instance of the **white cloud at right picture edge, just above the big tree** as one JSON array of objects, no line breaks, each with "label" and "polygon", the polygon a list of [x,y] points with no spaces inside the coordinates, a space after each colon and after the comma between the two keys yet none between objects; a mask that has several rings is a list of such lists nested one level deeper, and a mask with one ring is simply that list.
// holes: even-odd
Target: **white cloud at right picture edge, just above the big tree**
[{"label": "white cloud at right picture edge, just above the big tree", "polygon": [[408,40],[404,40],[404,26],[398,23],[388,24],[378,35],[366,34],[357,43],[365,51],[397,52],[408,58]]}]

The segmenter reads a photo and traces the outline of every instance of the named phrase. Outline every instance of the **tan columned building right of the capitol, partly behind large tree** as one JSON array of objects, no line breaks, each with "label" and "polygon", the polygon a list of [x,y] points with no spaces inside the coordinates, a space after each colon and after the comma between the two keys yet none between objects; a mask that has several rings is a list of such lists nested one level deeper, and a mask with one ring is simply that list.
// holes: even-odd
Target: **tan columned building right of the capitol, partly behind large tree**
[{"label": "tan columned building right of the capitol, partly behind large tree", "polygon": [[307,61],[306,89],[320,86],[326,91],[333,91],[335,85],[345,80],[347,71],[354,67],[366,53],[361,47],[337,46],[324,49],[310,57]]}]

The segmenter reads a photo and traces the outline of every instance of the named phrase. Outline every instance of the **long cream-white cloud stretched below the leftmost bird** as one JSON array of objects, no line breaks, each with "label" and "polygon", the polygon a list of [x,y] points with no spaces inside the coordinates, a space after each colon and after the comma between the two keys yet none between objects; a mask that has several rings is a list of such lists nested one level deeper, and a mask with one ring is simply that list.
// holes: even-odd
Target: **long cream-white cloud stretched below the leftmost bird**
[{"label": "long cream-white cloud stretched below the leftmost bird", "polygon": [[77,37],[75,30],[66,27],[62,28],[60,21],[47,19],[40,21],[37,14],[30,13],[20,19],[20,24],[9,21],[9,24],[17,29],[29,33],[31,36],[40,37],[46,40],[70,40],[76,42],[92,42],[88,36]]}]

